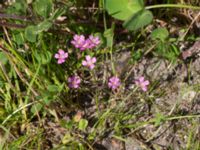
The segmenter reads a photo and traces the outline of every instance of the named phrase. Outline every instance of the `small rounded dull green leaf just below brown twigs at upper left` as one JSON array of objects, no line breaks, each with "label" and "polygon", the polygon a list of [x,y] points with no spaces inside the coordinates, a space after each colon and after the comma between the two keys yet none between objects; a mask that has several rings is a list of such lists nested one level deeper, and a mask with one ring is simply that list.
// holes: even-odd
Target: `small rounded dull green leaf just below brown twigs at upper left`
[{"label": "small rounded dull green leaf just below brown twigs at upper left", "polygon": [[36,26],[28,26],[25,29],[25,38],[29,42],[35,42],[37,37],[37,27]]}]

